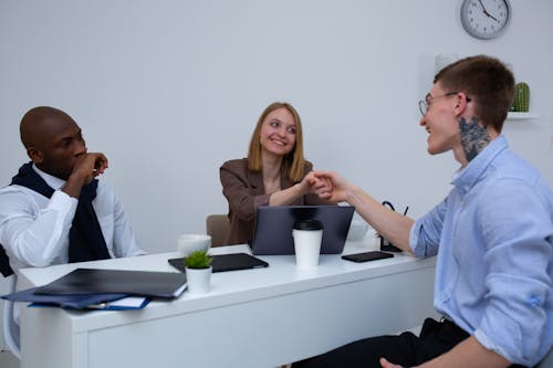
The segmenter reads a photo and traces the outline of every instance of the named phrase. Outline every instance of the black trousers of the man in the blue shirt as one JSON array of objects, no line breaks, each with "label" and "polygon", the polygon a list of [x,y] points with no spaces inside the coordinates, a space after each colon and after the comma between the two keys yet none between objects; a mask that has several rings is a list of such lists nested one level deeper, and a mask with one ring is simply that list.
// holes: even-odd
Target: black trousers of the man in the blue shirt
[{"label": "black trousers of the man in the blue shirt", "polygon": [[[379,359],[411,367],[431,360],[470,335],[447,319],[427,318],[417,337],[413,333],[371,337],[344,345],[326,354],[294,362],[294,368],[363,367],[382,368]],[[520,366],[511,366],[520,367]]]}]

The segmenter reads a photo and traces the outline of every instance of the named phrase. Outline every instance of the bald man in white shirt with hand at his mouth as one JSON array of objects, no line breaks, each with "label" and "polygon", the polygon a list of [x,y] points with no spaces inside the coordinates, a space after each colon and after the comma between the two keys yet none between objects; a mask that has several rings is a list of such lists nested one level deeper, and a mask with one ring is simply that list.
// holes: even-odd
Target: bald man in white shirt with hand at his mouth
[{"label": "bald man in white shirt with hand at his mouth", "polygon": [[87,151],[71,116],[34,107],[23,116],[20,133],[31,161],[0,189],[2,274],[144,254],[121,202],[96,179],[107,168],[106,157]]}]

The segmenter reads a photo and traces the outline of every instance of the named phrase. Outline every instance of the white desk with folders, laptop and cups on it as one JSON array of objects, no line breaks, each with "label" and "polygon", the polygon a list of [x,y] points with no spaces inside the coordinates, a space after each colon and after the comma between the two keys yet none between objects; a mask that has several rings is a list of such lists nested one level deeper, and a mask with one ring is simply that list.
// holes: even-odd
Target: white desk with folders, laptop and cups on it
[{"label": "white desk with folders, laptop and cups on it", "polygon": [[[347,243],[344,253],[366,251]],[[246,245],[215,253],[249,252]],[[175,271],[178,253],[21,270],[24,287],[75,267]],[[322,255],[300,271],[289,255],[268,269],[215,273],[211,292],[143,311],[23,308],[22,367],[276,367],[363,337],[420,325],[432,311],[435,260],[407,255],[367,263]]]}]

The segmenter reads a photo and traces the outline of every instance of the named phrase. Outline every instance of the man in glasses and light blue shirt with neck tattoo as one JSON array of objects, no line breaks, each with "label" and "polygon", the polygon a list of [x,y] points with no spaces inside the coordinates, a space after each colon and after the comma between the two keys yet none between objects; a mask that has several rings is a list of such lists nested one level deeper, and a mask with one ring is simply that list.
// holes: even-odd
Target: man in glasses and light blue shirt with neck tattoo
[{"label": "man in glasses and light blue shirt with neck tattoo", "polygon": [[512,73],[472,56],[440,71],[420,101],[428,153],[452,151],[450,193],[414,221],[334,172],[327,199],[347,201],[417,257],[438,255],[434,305],[419,336],[363,339],[294,367],[532,367],[553,346],[553,194],[501,135]]}]

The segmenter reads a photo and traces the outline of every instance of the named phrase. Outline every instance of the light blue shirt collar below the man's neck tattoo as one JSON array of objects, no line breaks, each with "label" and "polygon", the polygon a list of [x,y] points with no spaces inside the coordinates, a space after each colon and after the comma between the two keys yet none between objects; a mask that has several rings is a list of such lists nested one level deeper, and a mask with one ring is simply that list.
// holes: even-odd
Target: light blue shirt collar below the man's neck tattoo
[{"label": "light blue shirt collar below the man's neck tattoo", "polygon": [[478,154],[462,171],[458,172],[453,177],[451,183],[465,192],[468,192],[479,181],[495,156],[507,148],[507,139],[503,135],[500,135],[490,141],[490,144]]}]

